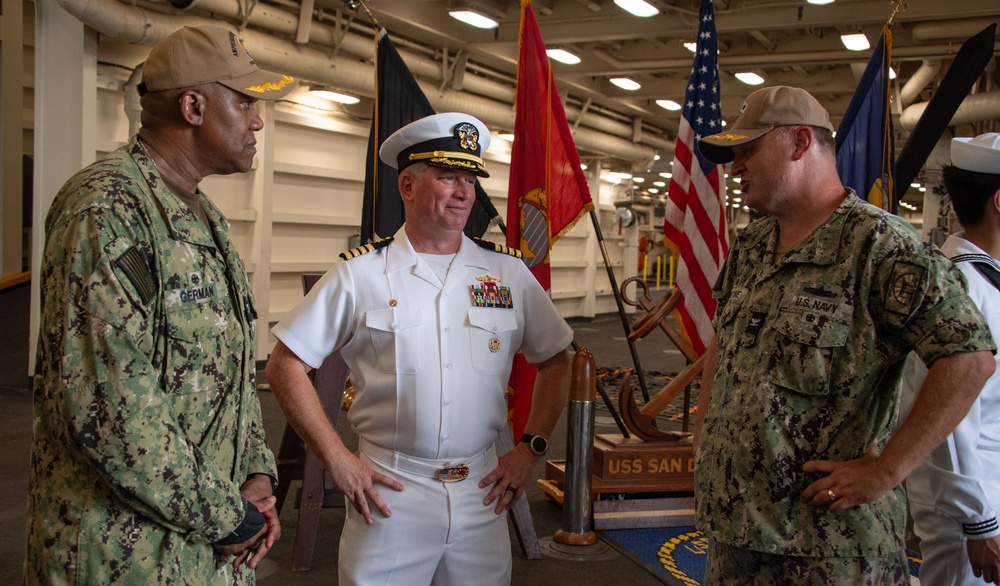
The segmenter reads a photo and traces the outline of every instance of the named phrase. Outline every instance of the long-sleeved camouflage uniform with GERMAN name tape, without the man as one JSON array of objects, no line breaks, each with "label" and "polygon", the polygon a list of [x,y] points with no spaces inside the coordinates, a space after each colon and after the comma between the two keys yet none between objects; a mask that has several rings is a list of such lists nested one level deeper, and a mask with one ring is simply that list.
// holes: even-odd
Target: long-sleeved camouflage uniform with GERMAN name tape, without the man
[{"label": "long-sleeved camouflage uniform with GERMAN name tape, without the man", "polygon": [[276,476],[256,311],[228,222],[211,233],[137,138],[72,177],[45,222],[25,582],[252,583],[211,544],[239,485]]}]

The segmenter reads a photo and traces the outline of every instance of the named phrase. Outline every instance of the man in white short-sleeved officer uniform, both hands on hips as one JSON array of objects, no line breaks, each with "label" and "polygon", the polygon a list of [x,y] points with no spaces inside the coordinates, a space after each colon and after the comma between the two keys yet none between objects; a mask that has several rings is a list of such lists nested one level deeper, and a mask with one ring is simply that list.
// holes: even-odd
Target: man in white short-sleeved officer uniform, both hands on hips
[{"label": "man in white short-sleeved officer uniform, both hands on hips", "polygon": [[[488,145],[486,126],[459,113],[390,136],[379,154],[400,171],[406,223],[342,254],[272,330],[268,382],[353,505],[342,585],[510,583],[506,511],[565,404],[573,332],[519,253],[462,233]],[[338,350],[359,456],[306,377]],[[498,455],[517,351],[538,367],[532,410],[523,441]]]}]

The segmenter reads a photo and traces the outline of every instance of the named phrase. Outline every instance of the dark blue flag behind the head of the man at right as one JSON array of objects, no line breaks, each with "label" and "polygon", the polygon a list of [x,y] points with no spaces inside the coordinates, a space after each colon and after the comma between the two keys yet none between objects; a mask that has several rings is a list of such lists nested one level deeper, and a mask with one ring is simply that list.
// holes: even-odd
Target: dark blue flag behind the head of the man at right
[{"label": "dark blue flag behind the head of the man at right", "polygon": [[891,54],[892,31],[885,26],[837,128],[837,171],[844,185],[859,197],[896,213],[896,157],[889,110]]}]

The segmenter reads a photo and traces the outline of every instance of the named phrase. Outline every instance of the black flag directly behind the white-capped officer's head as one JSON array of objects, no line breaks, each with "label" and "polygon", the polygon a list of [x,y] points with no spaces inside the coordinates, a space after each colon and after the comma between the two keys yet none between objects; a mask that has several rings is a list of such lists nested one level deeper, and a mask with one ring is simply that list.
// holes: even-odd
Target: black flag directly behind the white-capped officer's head
[{"label": "black flag directly behind the white-capped officer's head", "polygon": [[[392,236],[406,220],[399,195],[399,174],[378,158],[382,142],[414,120],[434,114],[427,96],[399,56],[385,29],[378,30],[375,105],[368,136],[365,194],[361,218],[361,243]],[[479,182],[476,203],[465,224],[468,236],[482,236],[499,213]]]}]

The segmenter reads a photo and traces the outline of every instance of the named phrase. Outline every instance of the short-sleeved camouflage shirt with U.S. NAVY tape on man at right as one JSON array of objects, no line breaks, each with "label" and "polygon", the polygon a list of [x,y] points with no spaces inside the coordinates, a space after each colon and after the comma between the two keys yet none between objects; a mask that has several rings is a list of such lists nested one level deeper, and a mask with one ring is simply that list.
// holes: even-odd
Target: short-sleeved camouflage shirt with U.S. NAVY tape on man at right
[{"label": "short-sleeved camouflage shirt with U.S. NAVY tape on man at right", "polygon": [[851,192],[775,261],[777,222],[739,236],[716,285],[718,370],[695,471],[697,522],[735,547],[896,556],[901,486],[832,513],[799,501],[810,460],[859,458],[896,425],[907,352],[995,349],[950,261]]}]

